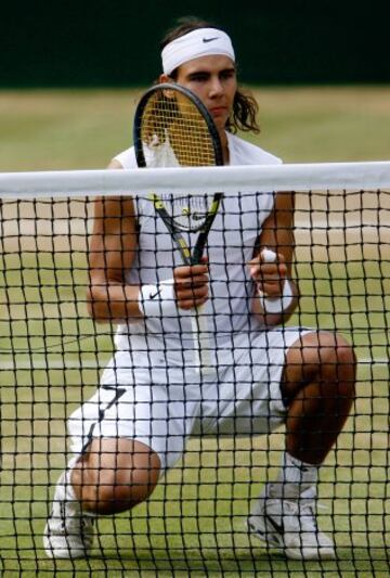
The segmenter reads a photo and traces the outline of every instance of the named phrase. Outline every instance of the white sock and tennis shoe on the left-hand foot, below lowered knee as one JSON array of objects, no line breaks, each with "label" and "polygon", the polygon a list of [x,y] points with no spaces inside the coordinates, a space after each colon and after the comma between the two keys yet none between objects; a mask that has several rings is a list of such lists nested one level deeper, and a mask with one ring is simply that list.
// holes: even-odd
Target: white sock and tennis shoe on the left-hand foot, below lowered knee
[{"label": "white sock and tennis shoe on the left-hand foot, below lowered knee", "polygon": [[86,557],[92,550],[94,517],[81,511],[69,497],[64,472],[56,485],[52,512],[43,532],[43,548],[50,558]]}]

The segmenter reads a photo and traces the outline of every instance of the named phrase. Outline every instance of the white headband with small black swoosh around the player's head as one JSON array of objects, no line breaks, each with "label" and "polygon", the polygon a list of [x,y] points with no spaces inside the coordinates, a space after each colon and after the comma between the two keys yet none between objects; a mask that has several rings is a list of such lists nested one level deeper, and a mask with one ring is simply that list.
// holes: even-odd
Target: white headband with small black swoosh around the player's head
[{"label": "white headband with small black swoosh around the player's head", "polygon": [[223,54],[235,62],[232,40],[225,33],[218,28],[198,28],[164,48],[162,70],[169,75],[184,62],[212,54]]}]

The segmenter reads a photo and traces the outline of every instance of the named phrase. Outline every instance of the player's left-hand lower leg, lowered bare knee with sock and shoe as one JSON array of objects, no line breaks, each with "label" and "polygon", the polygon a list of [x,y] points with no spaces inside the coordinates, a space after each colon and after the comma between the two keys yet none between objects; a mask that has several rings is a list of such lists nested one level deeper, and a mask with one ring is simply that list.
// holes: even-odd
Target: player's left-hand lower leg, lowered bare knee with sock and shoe
[{"label": "player's left-hand lower leg, lowered bare knee with sock and shoe", "polygon": [[159,467],[158,455],[144,444],[93,439],[87,453],[57,481],[43,534],[47,555],[89,555],[95,514],[114,514],[145,500],[157,484]]}]

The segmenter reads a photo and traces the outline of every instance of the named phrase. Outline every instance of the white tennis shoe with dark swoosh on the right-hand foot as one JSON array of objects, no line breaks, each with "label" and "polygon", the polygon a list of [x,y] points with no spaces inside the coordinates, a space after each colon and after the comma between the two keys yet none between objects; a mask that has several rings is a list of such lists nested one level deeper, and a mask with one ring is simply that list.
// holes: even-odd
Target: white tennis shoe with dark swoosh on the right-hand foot
[{"label": "white tennis shoe with dark swoosh on the right-hand foot", "polygon": [[269,486],[255,504],[247,526],[270,548],[283,550],[295,560],[335,558],[335,544],[318,530],[316,522],[316,488],[304,490],[298,499],[273,498]]}]

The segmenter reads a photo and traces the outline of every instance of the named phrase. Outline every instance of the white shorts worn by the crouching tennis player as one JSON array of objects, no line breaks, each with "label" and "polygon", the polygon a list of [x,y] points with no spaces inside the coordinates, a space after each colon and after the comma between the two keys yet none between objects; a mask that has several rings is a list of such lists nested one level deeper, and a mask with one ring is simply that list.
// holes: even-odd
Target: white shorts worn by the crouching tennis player
[{"label": "white shorts worn by the crouching tennis player", "polygon": [[[68,420],[72,451],[82,453],[95,437],[136,439],[158,454],[164,471],[193,436],[272,432],[287,412],[281,394],[286,352],[311,331],[251,333],[250,345],[243,335],[239,346],[218,352],[217,374],[203,382],[194,369],[168,365],[159,352],[117,351],[96,393]],[[142,359],[147,367],[140,367]]]}]

